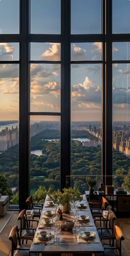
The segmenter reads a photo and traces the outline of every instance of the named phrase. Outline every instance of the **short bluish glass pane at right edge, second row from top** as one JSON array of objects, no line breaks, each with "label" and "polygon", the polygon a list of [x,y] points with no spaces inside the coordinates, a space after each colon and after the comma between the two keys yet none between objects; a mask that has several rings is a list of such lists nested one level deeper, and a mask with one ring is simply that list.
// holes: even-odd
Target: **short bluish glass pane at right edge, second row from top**
[{"label": "short bluish glass pane at right edge, second row from top", "polygon": [[130,60],[130,42],[112,43],[113,61]]}]

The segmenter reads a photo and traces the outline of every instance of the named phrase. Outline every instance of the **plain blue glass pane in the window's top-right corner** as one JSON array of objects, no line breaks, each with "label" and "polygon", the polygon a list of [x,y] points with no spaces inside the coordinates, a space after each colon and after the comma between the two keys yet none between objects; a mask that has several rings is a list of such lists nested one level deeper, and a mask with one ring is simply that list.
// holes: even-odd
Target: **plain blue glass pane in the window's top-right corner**
[{"label": "plain blue glass pane in the window's top-right corner", "polygon": [[128,0],[112,1],[112,33],[130,33],[130,2]]}]

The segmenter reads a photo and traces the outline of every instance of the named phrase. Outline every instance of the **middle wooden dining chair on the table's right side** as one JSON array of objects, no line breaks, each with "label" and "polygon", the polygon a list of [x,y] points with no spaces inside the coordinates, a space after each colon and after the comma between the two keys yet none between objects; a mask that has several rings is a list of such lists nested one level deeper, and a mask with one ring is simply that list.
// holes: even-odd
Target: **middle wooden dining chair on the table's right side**
[{"label": "middle wooden dining chair on the table's right side", "polygon": [[[105,227],[98,227],[97,231],[99,234],[99,237],[109,237],[109,236],[113,236],[113,232],[114,232],[114,228],[115,228],[115,220],[116,220],[116,216],[113,213],[113,211],[109,210],[109,213],[107,215],[107,220],[100,220],[101,224],[105,223],[105,225],[101,225],[101,226],[105,226]],[[98,220],[95,219],[95,224]]]}]

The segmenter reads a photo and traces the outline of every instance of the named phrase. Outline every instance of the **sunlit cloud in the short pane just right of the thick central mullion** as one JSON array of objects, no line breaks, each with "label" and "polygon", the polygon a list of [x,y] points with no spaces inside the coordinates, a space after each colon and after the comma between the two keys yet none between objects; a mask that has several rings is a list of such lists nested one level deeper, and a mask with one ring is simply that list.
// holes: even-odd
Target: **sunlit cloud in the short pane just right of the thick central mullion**
[{"label": "sunlit cloud in the short pane just right of the thick central mullion", "polygon": [[71,59],[72,61],[86,61],[87,60],[86,50],[83,49],[82,47],[72,44]]}]

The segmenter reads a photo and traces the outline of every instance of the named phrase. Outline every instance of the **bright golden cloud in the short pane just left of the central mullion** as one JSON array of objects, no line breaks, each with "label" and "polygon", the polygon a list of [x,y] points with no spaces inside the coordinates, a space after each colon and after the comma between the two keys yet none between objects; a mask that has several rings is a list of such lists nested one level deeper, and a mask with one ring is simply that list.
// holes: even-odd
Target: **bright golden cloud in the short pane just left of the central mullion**
[{"label": "bright golden cloud in the short pane just left of the central mullion", "polygon": [[47,42],[49,44],[49,50],[46,50],[43,54],[40,55],[41,60],[47,61],[60,61],[61,60],[61,44],[56,42]]}]

